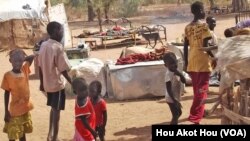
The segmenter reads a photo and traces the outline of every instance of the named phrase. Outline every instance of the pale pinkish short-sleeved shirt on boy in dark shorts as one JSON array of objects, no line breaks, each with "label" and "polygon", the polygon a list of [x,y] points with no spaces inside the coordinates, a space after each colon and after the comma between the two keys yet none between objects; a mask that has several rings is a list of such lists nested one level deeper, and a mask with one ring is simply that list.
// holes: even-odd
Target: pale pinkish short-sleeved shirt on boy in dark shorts
[{"label": "pale pinkish short-sleeved shirt on boy in dark shorts", "polygon": [[62,44],[49,39],[42,43],[38,65],[43,73],[43,86],[46,92],[57,92],[65,87],[65,79],[61,72],[70,69],[68,58]]}]

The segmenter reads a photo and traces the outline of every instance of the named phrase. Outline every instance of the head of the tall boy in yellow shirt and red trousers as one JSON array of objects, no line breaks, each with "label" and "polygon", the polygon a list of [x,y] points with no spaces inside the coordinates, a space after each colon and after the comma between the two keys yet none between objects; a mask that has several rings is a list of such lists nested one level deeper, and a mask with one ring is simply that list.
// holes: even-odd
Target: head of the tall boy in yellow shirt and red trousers
[{"label": "head of the tall boy in yellow shirt and red trousers", "polygon": [[200,1],[196,1],[191,5],[191,12],[197,19],[205,18],[204,6],[203,3]]}]

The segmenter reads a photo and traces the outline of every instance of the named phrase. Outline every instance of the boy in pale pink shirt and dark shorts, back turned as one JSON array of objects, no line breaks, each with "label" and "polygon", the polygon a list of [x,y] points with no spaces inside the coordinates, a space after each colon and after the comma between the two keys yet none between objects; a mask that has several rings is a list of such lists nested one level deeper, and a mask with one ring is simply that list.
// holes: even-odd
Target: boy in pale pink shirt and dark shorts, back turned
[{"label": "boy in pale pink shirt and dark shorts, back turned", "polygon": [[63,26],[58,22],[50,22],[47,32],[50,39],[42,43],[38,56],[40,90],[47,93],[47,105],[51,106],[47,140],[56,141],[60,111],[65,107],[64,78],[71,84],[67,73],[70,65],[60,43],[63,38]]}]

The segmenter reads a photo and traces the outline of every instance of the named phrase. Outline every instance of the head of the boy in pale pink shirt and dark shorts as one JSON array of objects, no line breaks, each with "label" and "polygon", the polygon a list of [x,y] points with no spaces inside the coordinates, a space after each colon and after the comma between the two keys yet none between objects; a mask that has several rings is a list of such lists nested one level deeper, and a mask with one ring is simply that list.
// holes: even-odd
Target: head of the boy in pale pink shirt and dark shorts
[{"label": "head of the boy in pale pink shirt and dark shorts", "polygon": [[58,22],[50,22],[47,25],[47,32],[51,39],[58,42],[62,41],[63,38],[63,26]]}]

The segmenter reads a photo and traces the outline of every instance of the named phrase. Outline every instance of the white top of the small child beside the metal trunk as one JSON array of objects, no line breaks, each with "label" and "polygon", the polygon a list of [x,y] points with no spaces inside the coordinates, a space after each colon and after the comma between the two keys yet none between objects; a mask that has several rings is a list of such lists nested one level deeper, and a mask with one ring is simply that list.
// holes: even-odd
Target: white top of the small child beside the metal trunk
[{"label": "white top of the small child beside the metal trunk", "polygon": [[[171,72],[168,68],[166,69],[165,82],[171,81],[173,95],[177,100],[180,100],[181,96],[181,81],[178,76]],[[173,103],[173,99],[169,96],[168,91],[166,90],[165,98],[168,103]]]}]

